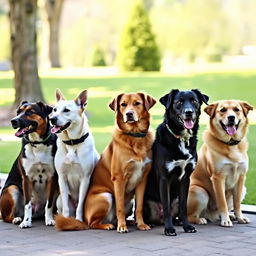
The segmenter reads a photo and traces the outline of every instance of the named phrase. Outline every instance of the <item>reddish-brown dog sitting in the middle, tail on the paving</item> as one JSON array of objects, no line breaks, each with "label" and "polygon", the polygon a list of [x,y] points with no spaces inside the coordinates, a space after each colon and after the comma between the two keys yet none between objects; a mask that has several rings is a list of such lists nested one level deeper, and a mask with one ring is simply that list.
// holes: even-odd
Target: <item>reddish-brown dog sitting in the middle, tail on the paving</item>
[{"label": "reddish-brown dog sitting in the middle, tail on the paving", "polygon": [[[109,104],[116,113],[112,142],[103,152],[94,170],[85,202],[84,217],[89,228],[128,232],[126,216],[136,198],[136,222],[140,230],[150,227],[143,221],[143,197],[151,169],[151,147],[148,110],[156,103],[144,93],[120,94]],[[60,230],[79,230],[86,225],[75,219],[60,219]],[[80,224],[79,224],[80,223]]]}]

